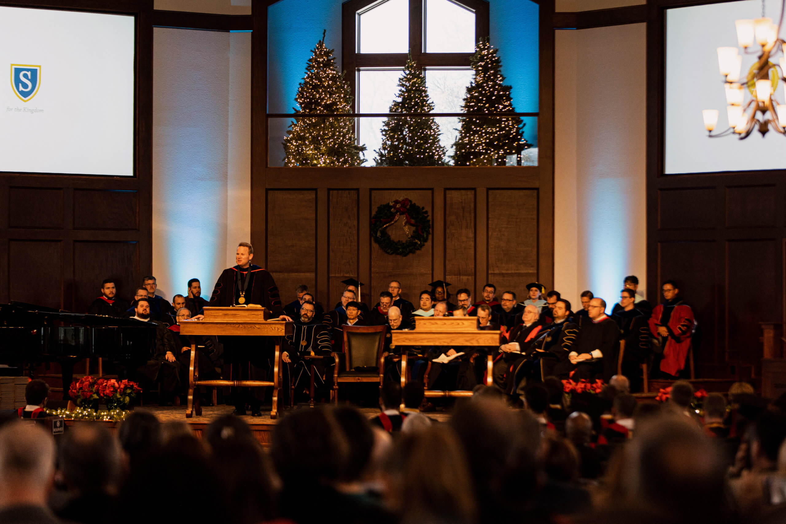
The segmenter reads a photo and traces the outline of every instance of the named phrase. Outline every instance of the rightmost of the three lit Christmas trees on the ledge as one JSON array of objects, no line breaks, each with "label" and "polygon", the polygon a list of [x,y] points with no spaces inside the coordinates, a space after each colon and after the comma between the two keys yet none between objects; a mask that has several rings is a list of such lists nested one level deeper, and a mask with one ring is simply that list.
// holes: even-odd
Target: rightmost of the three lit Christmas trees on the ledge
[{"label": "rightmost of the three lit Christmas trees on the ledge", "polygon": [[[488,38],[478,42],[471,62],[475,75],[467,87],[462,112],[516,112],[497,51]],[[518,156],[527,148],[523,140],[524,124],[518,116],[462,116],[459,123],[452,155],[456,166],[505,165],[505,156]]]}]

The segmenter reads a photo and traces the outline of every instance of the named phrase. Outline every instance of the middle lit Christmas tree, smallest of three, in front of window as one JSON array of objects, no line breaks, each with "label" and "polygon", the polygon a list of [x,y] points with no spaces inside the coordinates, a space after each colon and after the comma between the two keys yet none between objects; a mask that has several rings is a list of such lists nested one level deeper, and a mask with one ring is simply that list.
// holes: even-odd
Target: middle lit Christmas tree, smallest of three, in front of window
[{"label": "middle lit Christmas tree, smallest of three, in front of window", "polygon": [[[412,55],[399,78],[399,100],[391,113],[430,113],[426,77]],[[430,116],[388,117],[382,127],[382,145],[376,152],[377,166],[444,166],[446,149],[439,143],[439,124]]]}]

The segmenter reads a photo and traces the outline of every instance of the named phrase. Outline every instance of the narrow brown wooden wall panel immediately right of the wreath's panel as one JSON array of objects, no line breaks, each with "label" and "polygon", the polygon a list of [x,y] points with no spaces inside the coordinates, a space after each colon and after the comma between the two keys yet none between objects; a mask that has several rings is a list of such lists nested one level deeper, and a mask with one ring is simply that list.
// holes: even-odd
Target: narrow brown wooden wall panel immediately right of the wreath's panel
[{"label": "narrow brown wooden wall panel immediately right of the wreath's panel", "polygon": [[[474,293],[476,288],[475,227],[475,191],[446,189],[444,280],[453,284],[450,289],[454,294],[461,288],[467,288]],[[472,295],[473,299],[475,296]]]}]

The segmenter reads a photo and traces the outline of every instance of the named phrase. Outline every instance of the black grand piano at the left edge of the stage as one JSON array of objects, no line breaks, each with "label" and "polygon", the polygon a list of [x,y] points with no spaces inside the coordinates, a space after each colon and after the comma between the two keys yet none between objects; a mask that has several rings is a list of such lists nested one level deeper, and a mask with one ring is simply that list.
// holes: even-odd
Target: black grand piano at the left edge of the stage
[{"label": "black grand piano at the left edge of the stage", "polygon": [[[130,318],[70,313],[25,302],[0,304],[0,364],[89,357],[136,361],[148,357],[155,341],[154,325]],[[67,377],[63,378],[65,383]]]}]

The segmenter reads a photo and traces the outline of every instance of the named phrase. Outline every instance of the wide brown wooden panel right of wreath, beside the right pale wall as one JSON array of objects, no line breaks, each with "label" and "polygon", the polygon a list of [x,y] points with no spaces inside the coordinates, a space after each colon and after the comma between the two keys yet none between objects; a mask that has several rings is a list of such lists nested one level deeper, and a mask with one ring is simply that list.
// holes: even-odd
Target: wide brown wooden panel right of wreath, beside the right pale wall
[{"label": "wide brown wooden panel right of wreath, beside the right pale wall", "polygon": [[489,189],[487,213],[489,281],[523,297],[538,280],[538,190]]}]

